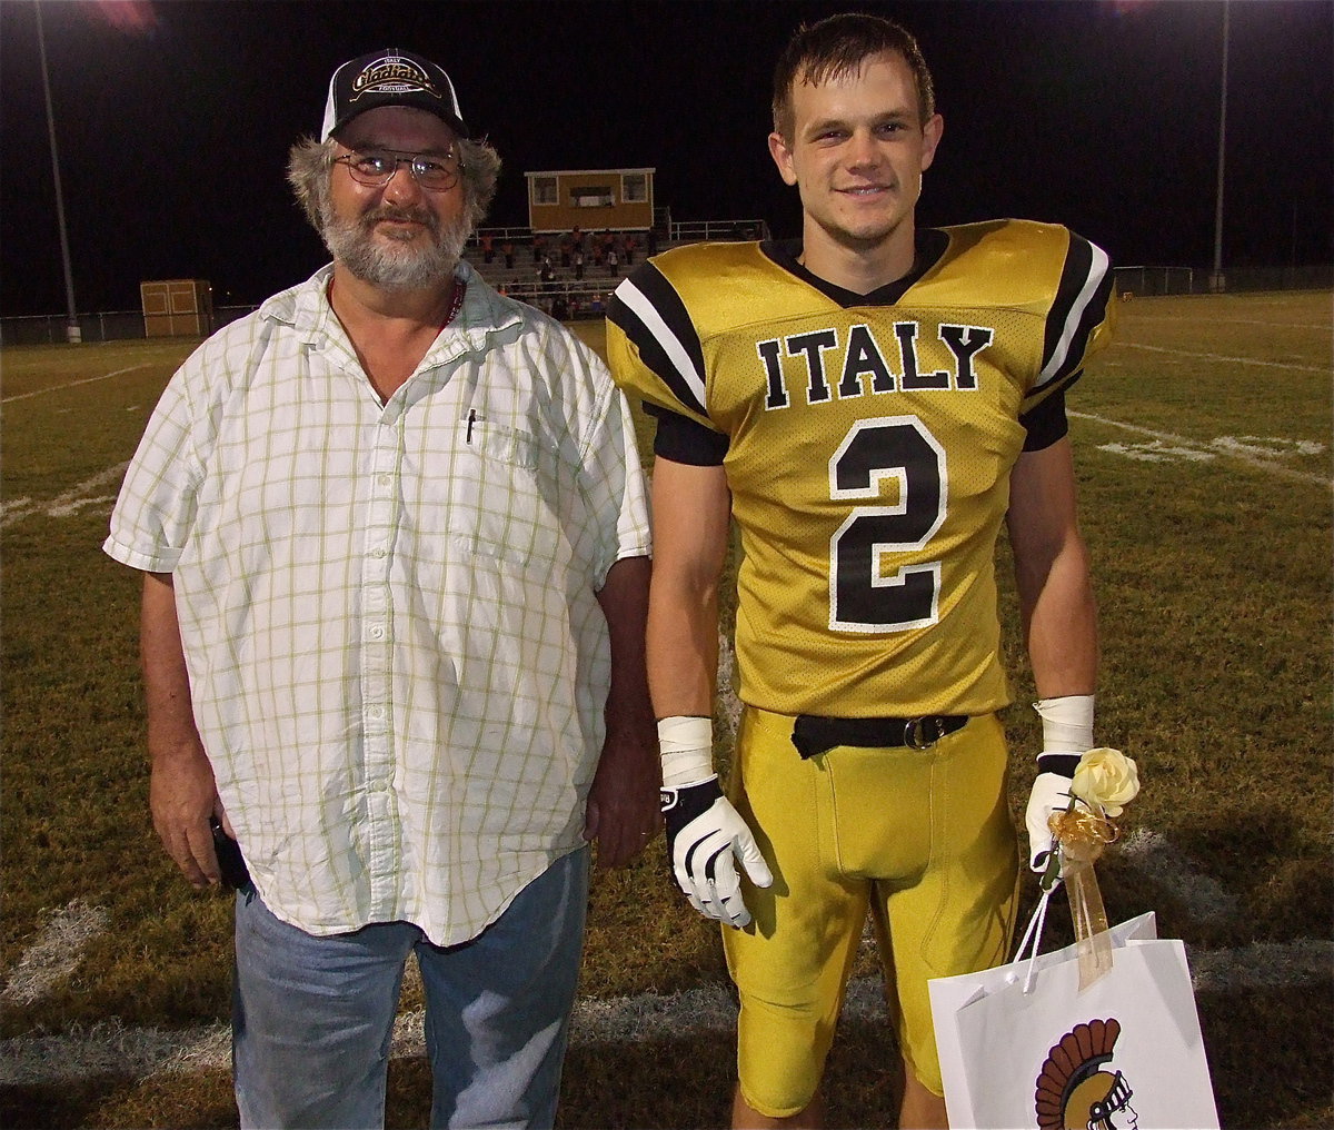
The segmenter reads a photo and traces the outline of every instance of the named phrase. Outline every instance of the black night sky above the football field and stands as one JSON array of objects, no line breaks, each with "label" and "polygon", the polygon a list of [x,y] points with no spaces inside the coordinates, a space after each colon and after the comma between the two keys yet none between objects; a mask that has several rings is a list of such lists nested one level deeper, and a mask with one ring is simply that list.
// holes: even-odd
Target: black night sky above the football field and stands
[{"label": "black night sky above the football field and stands", "polygon": [[[676,220],[796,235],[766,148],[770,79],[802,20],[898,19],[935,75],[944,140],[919,221],[1069,224],[1122,265],[1207,267],[1222,4],[243,3],[43,0],[77,308],[144,279],[251,304],[324,261],[283,180],[331,71],[382,47],[439,61],[506,163],[491,221],[526,224],[524,172],[654,167]],[[1334,257],[1334,5],[1233,0],[1223,264]],[[31,0],[0,0],[0,314],[65,310]]]}]

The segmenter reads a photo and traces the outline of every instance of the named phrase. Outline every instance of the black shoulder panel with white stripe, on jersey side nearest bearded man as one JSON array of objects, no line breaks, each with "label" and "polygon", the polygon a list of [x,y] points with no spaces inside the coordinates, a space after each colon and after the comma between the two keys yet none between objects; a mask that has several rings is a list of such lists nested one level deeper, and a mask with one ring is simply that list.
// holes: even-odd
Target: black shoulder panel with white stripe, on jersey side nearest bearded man
[{"label": "black shoulder panel with white stripe, on jersey side nearest bearded man", "polygon": [[612,295],[607,318],[639,350],[639,358],[683,406],[704,407],[704,351],[680,295],[652,263],[626,277]]}]

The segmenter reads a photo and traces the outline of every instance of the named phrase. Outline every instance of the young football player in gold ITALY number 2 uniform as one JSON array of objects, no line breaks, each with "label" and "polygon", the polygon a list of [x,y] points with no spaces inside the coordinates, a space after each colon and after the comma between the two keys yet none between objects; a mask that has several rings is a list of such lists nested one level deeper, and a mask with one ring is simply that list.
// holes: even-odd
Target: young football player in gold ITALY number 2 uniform
[{"label": "young football player in gold ITALY number 2 uniform", "polygon": [[[1097,626],[1066,390],[1111,269],[1055,224],[914,223],[940,144],[912,36],[802,28],[770,152],[795,243],[698,244],[610,308],[619,383],[658,418],[650,683],[670,854],[724,923],[738,1126],[818,1126],[867,913],[906,1065],[900,1126],[943,1126],[927,979],[1005,959],[1015,898],[994,554],[1014,548],[1045,750],[1030,866],[1093,744]],[[735,520],[744,703],[712,763],[718,584]]]}]

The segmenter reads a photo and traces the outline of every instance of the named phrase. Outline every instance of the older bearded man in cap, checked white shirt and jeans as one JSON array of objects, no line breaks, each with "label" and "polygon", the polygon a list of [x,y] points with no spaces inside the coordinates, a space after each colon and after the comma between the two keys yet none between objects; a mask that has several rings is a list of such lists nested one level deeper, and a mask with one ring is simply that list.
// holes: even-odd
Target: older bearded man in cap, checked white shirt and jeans
[{"label": "older bearded man in cap, checked white shirt and jeans", "polygon": [[383,1123],[410,953],[432,1126],[550,1126],[586,840],[658,827],[630,416],[460,261],[498,172],[436,64],[338,68],[289,167],[334,263],[185,362],[112,516],[153,823],[196,886],[211,820],[249,871],[243,1126]]}]

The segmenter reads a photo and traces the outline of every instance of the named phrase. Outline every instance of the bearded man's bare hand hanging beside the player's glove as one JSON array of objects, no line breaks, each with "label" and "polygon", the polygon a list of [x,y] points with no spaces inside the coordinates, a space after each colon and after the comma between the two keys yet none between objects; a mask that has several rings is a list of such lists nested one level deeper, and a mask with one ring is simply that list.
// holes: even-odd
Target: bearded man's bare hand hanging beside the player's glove
[{"label": "bearded man's bare hand hanging beside the player's glove", "polygon": [[583,832],[590,843],[598,840],[599,867],[624,867],[662,827],[656,744],[652,718],[628,732],[608,730],[588,790]]}]

